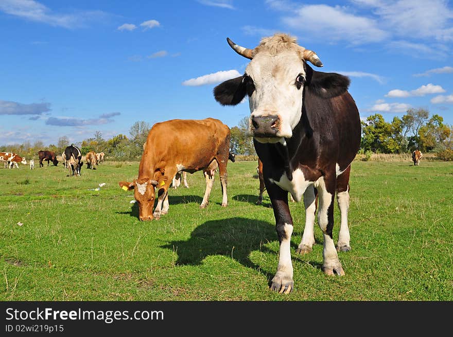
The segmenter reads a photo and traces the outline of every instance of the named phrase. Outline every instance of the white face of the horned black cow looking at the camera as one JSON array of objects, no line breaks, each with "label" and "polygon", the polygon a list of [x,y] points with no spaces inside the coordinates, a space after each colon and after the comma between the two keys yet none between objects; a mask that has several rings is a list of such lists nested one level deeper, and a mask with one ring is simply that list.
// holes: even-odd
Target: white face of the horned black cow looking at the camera
[{"label": "white face of the horned black cow looking at the camera", "polygon": [[[297,50],[258,52],[246,71],[251,134],[260,143],[283,143],[302,115],[304,61]],[[259,122],[263,122],[260,128]],[[257,128],[258,126],[258,128]]]}]

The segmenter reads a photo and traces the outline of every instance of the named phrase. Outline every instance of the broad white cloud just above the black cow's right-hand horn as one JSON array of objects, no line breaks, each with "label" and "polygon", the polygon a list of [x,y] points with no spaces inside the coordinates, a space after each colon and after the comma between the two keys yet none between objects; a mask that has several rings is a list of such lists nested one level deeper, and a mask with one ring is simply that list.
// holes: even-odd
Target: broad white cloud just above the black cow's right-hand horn
[{"label": "broad white cloud just above the black cow's right-hand horn", "polygon": [[283,22],[291,29],[331,41],[349,41],[351,44],[379,42],[388,33],[378,27],[370,17],[351,14],[351,10],[327,5],[306,5],[295,11],[293,16],[285,16]]}]

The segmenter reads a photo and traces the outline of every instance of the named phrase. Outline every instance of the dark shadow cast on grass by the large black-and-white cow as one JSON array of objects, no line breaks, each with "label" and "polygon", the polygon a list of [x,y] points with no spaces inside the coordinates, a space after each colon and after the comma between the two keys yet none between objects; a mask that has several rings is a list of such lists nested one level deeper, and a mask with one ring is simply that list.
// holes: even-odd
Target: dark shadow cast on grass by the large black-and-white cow
[{"label": "dark shadow cast on grass by the large black-and-white cow", "polygon": [[[200,265],[207,256],[222,255],[239,262],[245,267],[266,275],[270,285],[275,270],[268,273],[259,264],[250,260],[253,251],[271,253],[278,259],[278,251],[266,247],[267,242],[276,241],[275,225],[247,218],[229,218],[206,221],[190,234],[188,240],[170,241],[162,248],[176,252],[176,265]],[[292,245],[293,249],[297,245]],[[317,262],[308,262],[321,268]]]}]

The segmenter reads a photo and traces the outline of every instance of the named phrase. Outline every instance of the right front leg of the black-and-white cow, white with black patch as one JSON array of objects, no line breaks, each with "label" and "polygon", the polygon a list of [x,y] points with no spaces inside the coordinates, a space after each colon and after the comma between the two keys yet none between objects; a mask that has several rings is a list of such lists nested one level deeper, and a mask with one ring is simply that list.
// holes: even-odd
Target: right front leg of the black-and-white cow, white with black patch
[{"label": "right front leg of the black-and-white cow, white with black patch", "polygon": [[338,259],[332,231],[334,228],[334,197],[335,197],[335,176],[329,179],[326,176],[317,181],[319,209],[318,225],[324,237],[324,248],[322,251],[322,271],[326,275],[344,275],[340,260]]}]

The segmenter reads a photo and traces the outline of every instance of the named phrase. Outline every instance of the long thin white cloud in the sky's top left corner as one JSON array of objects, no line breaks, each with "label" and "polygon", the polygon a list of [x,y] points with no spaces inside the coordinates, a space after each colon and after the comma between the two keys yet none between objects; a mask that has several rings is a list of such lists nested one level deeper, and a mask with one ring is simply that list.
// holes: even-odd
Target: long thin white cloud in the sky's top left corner
[{"label": "long thin white cloud in the sky's top left corner", "polygon": [[106,13],[102,11],[83,11],[72,14],[54,13],[34,0],[2,0],[0,1],[0,11],[29,21],[64,28],[82,27],[86,21],[99,20],[106,16]]}]

